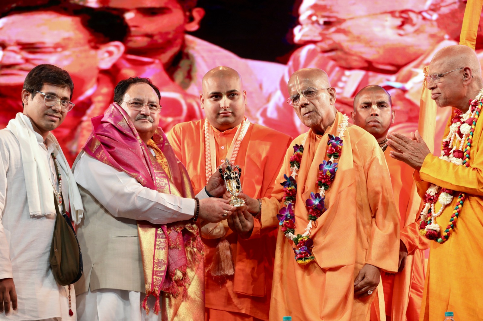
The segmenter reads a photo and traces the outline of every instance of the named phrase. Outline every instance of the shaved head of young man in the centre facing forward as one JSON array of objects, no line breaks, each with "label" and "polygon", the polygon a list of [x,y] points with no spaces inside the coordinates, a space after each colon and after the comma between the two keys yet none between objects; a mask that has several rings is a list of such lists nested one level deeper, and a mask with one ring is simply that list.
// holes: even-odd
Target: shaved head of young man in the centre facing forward
[{"label": "shaved head of young man in the centre facing forward", "polygon": [[202,80],[199,96],[206,119],[219,131],[241,124],[247,105],[240,74],[230,67],[219,66],[208,71]]}]

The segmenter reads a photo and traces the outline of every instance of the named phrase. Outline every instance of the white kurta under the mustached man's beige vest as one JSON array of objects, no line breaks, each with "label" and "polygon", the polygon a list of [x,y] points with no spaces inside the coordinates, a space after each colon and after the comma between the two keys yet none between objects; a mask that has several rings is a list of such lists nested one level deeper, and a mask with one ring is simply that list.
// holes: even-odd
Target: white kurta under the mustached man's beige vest
[{"label": "white kurta under the mustached man's beige vest", "polygon": [[[154,156],[154,151],[148,147]],[[74,177],[80,186],[96,196],[115,217],[168,224],[193,218],[193,199],[159,193],[143,187],[134,177],[118,171],[82,152],[75,164]],[[205,189],[197,197],[207,198]],[[77,296],[79,321],[151,321],[161,320],[161,313],[146,316],[141,307],[144,294],[118,289],[90,290]],[[150,299],[153,299],[151,297]],[[154,306],[154,302],[148,304]]]}]

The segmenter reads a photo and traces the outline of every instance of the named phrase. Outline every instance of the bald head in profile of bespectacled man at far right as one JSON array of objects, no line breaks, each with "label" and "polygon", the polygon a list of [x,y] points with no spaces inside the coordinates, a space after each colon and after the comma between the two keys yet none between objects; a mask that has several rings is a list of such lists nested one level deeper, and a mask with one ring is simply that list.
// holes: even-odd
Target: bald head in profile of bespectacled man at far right
[{"label": "bald head in profile of bespectacled man at far right", "polygon": [[483,86],[480,61],[474,50],[453,45],[438,51],[428,69],[426,88],[438,107],[456,107],[468,110]]}]

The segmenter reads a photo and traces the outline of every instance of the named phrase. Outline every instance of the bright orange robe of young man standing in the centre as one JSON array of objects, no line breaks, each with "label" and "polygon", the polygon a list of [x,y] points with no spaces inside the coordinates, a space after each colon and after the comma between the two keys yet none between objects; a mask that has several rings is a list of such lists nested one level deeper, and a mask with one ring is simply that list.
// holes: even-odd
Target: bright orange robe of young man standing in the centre
[{"label": "bright orange robe of young man standing in the centre", "polygon": [[[205,121],[207,120],[175,125],[168,134],[176,155],[186,166],[195,193],[206,185]],[[238,126],[220,132],[213,128],[217,165],[227,157],[237,129]],[[241,186],[245,193],[256,198],[271,195],[274,179],[290,142],[291,138],[286,134],[250,124],[235,161],[242,169]],[[214,280],[206,272],[206,307],[268,320],[276,230],[272,228],[271,232],[269,230],[266,235],[256,240],[241,240],[237,234],[227,228],[226,230],[225,238],[231,245],[235,275],[227,280]],[[219,239],[203,241],[206,245],[205,267],[208,268],[213,261]],[[219,319],[214,317],[210,320]]]}]

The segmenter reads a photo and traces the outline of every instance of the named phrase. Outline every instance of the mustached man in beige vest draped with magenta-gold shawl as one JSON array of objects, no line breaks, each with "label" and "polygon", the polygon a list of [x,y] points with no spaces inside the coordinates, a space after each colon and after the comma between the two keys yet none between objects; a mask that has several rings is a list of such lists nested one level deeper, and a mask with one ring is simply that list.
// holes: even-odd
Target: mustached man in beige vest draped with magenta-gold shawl
[{"label": "mustached man in beige vest draped with magenta-gold shawl", "polygon": [[193,199],[185,166],[158,127],[159,97],[149,79],[119,81],[74,164],[85,206],[79,321],[204,320],[198,220],[219,222],[235,208],[207,196],[221,184]]}]

